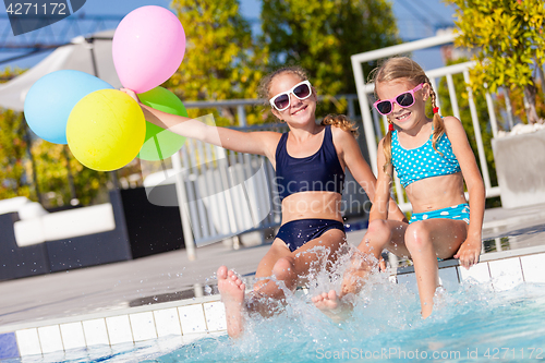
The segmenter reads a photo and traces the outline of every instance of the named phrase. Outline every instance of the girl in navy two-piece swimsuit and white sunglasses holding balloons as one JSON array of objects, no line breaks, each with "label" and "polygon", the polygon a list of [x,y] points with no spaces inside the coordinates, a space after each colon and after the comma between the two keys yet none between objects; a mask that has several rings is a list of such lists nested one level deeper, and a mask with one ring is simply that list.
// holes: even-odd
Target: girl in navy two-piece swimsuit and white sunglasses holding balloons
[{"label": "girl in navy two-piece swimsuit and white sunglasses holding balloons", "polygon": [[[124,92],[137,99],[134,93]],[[283,68],[265,77],[261,97],[269,101],[271,112],[288,124],[289,132],[245,133],[209,126],[142,105],[146,120],[159,126],[231,150],[264,155],[276,169],[282,220],[259,262],[253,292],[246,297],[241,278],[226,266],[217,271],[231,337],[243,332],[246,311],[270,315],[274,302],[284,299],[282,287],[294,290],[314,262],[336,259],[346,243],[340,208],[344,170],[350,170],[370,198],[376,183],[354,137],[353,123],[343,116],[328,116],[316,123],[316,92],[302,69]],[[391,218],[403,220],[393,201],[388,204]]]}]

